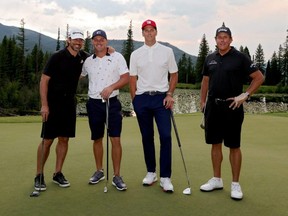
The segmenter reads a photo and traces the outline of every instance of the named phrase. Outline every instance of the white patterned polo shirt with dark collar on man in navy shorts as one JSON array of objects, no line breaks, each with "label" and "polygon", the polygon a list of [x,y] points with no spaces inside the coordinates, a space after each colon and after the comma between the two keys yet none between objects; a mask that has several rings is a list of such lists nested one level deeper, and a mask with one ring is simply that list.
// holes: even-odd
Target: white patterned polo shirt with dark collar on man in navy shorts
[{"label": "white patterned polo shirt with dark collar on man in navy shorts", "polygon": [[[94,99],[101,99],[100,93],[104,88],[117,82],[120,76],[128,73],[124,57],[114,52],[102,58],[91,55],[88,57],[82,67],[81,76],[87,76],[89,79],[88,96]],[[119,90],[114,90],[110,97],[119,94]]]}]

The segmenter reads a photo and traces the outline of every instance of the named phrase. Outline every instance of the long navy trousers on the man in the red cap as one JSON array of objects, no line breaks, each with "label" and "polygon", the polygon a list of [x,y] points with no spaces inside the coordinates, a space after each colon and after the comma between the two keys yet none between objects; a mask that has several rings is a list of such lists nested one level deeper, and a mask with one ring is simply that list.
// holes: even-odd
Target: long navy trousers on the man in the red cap
[{"label": "long navy trousers on the man in the red cap", "polygon": [[171,177],[172,140],[171,110],[165,109],[163,100],[166,94],[136,95],[134,111],[142,135],[142,144],[147,172],[156,171],[154,119],[160,137],[160,177]]}]

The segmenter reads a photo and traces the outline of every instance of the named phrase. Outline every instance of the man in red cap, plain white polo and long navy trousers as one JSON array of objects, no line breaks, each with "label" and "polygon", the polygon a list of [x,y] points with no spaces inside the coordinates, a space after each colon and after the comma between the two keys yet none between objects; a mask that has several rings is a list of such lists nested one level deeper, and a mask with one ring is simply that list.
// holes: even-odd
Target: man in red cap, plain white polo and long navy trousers
[{"label": "man in red cap, plain white polo and long navy trousers", "polygon": [[[147,175],[143,185],[157,181],[154,128],[155,118],[160,135],[160,186],[173,192],[171,183],[172,144],[171,109],[173,92],[178,82],[178,68],[173,50],[156,41],[157,27],[153,20],[142,24],[145,43],[130,58],[130,93],[142,134]],[[168,80],[170,75],[170,82]]]}]

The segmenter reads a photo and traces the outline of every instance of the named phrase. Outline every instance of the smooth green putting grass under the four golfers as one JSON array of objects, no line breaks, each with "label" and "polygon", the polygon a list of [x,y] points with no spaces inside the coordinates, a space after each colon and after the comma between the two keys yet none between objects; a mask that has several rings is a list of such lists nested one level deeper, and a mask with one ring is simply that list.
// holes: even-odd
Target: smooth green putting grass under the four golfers
[{"label": "smooth green putting grass under the four golfers", "polygon": [[[128,190],[119,192],[111,185],[111,166],[108,193],[103,192],[103,181],[88,185],[95,164],[87,118],[81,117],[63,170],[71,187],[63,189],[51,181],[55,166],[54,143],[45,166],[47,191],[38,198],[30,198],[36,148],[41,141],[41,119],[39,116],[0,118],[0,215],[288,215],[286,117],[246,115],[242,133],[242,201],[230,199],[231,171],[226,148],[222,166],[224,190],[211,193],[199,190],[212,175],[210,146],[204,143],[203,130],[199,127],[200,113],[175,116],[192,184],[190,196],[182,194],[187,181],[174,132],[172,180],[175,192],[162,192],[159,182],[151,187],[141,185],[146,171],[136,118],[124,118],[123,122],[121,175]],[[158,161],[157,135],[155,140]]]}]

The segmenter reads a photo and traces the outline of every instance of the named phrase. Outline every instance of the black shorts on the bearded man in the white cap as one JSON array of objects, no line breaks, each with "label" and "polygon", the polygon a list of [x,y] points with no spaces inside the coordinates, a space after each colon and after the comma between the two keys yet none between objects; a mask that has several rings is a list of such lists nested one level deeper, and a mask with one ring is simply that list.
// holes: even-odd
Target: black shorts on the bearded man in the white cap
[{"label": "black shorts on the bearded man in the white cap", "polygon": [[41,137],[75,137],[76,99],[74,96],[57,96],[48,99],[49,116],[42,127]]}]

